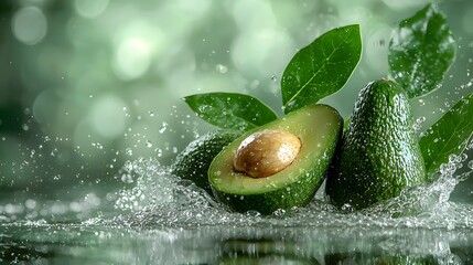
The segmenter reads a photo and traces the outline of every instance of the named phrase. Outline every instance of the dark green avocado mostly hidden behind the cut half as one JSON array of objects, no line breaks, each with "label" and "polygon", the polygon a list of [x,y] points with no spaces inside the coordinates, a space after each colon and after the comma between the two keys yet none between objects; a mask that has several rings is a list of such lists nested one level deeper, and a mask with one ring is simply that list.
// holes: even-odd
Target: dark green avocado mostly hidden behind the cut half
[{"label": "dark green avocado mostly hidden behind the cut half", "polygon": [[207,178],[208,167],[215,156],[240,135],[241,131],[237,130],[217,130],[191,141],[175,158],[171,166],[171,173],[193,181],[212,194]]}]

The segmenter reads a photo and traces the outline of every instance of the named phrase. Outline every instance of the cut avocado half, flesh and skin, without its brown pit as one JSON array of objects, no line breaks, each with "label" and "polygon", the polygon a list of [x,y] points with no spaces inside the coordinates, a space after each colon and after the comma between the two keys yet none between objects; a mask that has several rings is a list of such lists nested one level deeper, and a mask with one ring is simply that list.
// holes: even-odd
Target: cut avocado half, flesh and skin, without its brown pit
[{"label": "cut avocado half, flesh and skin, without its brown pit", "polygon": [[[208,169],[215,198],[238,212],[249,210],[269,214],[278,209],[307,205],[322,184],[343,120],[326,105],[311,105],[245,132],[218,153]],[[249,135],[266,130],[286,130],[301,140],[295,160],[266,178],[251,178],[233,168],[235,153]]]}]

